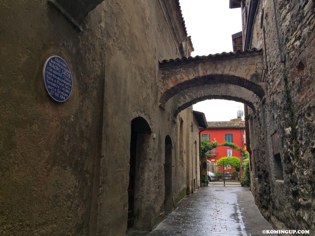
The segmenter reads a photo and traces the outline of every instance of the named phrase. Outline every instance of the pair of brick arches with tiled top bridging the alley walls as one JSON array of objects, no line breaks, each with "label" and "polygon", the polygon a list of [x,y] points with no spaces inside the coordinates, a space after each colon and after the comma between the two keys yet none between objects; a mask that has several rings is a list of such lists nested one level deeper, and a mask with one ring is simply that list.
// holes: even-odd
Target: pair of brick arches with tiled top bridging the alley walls
[{"label": "pair of brick arches with tiled top bridging the alley walls", "polygon": [[225,98],[247,104],[254,111],[256,100],[265,96],[264,85],[256,81],[256,63],[262,51],[221,53],[160,63],[159,105],[173,100],[173,112],[208,98]]}]

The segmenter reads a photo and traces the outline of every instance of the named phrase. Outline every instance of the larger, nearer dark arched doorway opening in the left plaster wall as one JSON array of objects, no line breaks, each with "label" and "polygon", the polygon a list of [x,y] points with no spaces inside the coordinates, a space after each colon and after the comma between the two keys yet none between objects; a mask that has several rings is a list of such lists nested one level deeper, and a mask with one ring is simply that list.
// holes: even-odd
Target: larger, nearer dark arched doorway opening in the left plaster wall
[{"label": "larger, nearer dark arched doorway opening in the left plaster wall", "polygon": [[145,189],[141,188],[143,175],[141,175],[140,162],[146,159],[148,155],[148,143],[150,142],[150,134],[152,130],[146,120],[142,117],[136,117],[131,121],[130,136],[130,169],[129,169],[129,186],[128,186],[128,228],[134,225],[144,225],[144,213],[139,205],[141,202],[141,192]]}]

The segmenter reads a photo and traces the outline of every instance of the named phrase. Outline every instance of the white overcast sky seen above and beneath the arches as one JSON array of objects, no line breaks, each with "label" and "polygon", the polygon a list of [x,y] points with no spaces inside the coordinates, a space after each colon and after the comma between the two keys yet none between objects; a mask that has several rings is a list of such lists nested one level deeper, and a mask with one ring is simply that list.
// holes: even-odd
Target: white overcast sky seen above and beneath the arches
[{"label": "white overcast sky seen above and beneath the arches", "polygon": [[[242,31],[240,8],[230,9],[229,0],[180,0],[180,6],[192,37],[193,57],[233,51],[232,34]],[[244,105],[212,99],[194,104],[193,110],[203,112],[207,121],[229,121]]]}]

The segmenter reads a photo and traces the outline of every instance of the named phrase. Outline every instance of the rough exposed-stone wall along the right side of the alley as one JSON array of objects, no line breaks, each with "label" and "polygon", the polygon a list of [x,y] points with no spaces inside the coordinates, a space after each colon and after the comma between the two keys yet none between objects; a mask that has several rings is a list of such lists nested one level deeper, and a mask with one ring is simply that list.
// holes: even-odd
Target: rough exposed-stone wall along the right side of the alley
[{"label": "rough exposed-stone wall along the right side of the alley", "polygon": [[[266,35],[268,73],[266,100],[250,119],[251,162],[255,201],[277,229],[315,232],[315,3],[312,0],[276,1],[280,42],[286,62],[280,62],[273,1],[260,1],[252,47]],[[265,52],[264,52],[265,53]],[[277,131],[284,181],[276,181],[271,135]],[[255,171],[257,169],[257,175]],[[255,183],[255,184],[253,184]]]}]

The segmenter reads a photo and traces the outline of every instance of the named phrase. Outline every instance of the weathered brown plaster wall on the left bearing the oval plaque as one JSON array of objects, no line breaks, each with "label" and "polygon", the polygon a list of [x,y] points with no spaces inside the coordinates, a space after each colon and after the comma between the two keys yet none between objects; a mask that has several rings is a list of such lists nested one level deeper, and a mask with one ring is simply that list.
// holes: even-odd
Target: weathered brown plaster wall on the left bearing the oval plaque
[{"label": "weathered brown plaster wall on the left bearing the oval plaque", "polygon": [[[135,227],[152,229],[163,218],[166,135],[173,158],[179,153],[171,105],[158,107],[158,61],[180,56],[158,1],[105,1],[82,32],[46,1],[0,5],[1,235],[125,235],[130,122],[138,116],[156,138],[145,142]],[[43,85],[51,55],[72,71],[64,103]],[[184,119],[190,130],[192,114]],[[174,182],[186,185],[174,163]],[[174,199],[186,194],[183,186],[174,187]]]}]

